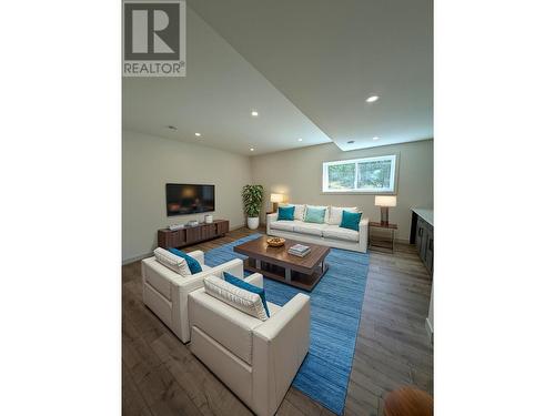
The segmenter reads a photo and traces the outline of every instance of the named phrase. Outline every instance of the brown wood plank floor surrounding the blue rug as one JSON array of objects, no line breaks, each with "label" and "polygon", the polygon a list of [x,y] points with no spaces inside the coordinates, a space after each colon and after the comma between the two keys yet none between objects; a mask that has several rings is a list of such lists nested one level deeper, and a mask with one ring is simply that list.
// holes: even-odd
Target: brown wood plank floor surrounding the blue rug
[{"label": "brown wood plank floor surrounding the blue rug", "polygon": [[[251,233],[240,229],[185,251],[209,251]],[[144,307],[140,262],[122,268],[123,414],[252,415]],[[385,395],[403,385],[433,393],[433,347],[424,327],[431,283],[413,246],[371,252],[344,415],[382,415]],[[333,414],[291,387],[278,415]]]}]

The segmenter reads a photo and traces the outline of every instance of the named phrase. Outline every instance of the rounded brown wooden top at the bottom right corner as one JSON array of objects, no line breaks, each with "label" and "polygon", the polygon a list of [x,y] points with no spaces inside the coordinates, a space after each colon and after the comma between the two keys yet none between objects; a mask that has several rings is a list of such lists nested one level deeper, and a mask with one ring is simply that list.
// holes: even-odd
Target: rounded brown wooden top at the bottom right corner
[{"label": "rounded brown wooden top at the bottom right corner", "polygon": [[426,393],[413,387],[402,387],[385,397],[384,416],[432,416],[434,400]]}]

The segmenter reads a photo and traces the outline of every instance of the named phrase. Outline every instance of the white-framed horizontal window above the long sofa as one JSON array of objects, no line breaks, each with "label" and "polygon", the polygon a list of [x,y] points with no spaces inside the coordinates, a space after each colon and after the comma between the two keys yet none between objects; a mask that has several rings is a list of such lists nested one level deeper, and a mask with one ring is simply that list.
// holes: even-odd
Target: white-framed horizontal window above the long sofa
[{"label": "white-framed horizontal window above the long sofa", "polygon": [[395,192],[395,154],[379,158],[324,162],[322,192]]}]

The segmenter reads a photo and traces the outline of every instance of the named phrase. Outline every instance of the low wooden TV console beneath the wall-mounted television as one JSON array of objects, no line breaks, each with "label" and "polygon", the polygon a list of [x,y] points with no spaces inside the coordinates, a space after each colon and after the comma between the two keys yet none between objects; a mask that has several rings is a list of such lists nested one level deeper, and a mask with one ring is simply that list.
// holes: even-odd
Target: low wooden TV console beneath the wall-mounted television
[{"label": "low wooden TV console beneath the wall-mounted television", "polygon": [[185,225],[184,229],[174,231],[162,229],[158,231],[158,246],[162,248],[182,247],[221,237],[229,231],[230,222],[228,220],[214,220],[211,224]]}]

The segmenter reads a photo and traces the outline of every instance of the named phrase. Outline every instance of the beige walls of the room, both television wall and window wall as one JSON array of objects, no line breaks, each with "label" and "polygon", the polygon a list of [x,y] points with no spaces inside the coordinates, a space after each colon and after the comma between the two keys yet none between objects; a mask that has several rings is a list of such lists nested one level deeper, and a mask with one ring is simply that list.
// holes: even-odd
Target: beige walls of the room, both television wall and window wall
[{"label": "beige walls of the room, both television wall and window wall", "polygon": [[261,156],[242,156],[201,145],[123,132],[123,261],[150,253],[157,231],[169,224],[203,219],[204,214],[168,217],[165,183],[215,185],[215,217],[230,220],[231,227],[244,224],[241,189],[246,183],[264,185],[265,205],[270,193],[280,192],[291,202],[360,206],[372,221],[380,220],[374,195],[322,194],[322,162],[397,153],[397,206],[390,221],[400,225],[396,237],[408,240],[413,206],[433,206],[433,141],[396,144],[342,152],[333,143]]}]

